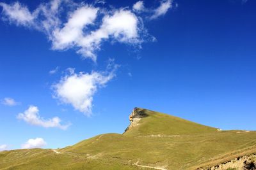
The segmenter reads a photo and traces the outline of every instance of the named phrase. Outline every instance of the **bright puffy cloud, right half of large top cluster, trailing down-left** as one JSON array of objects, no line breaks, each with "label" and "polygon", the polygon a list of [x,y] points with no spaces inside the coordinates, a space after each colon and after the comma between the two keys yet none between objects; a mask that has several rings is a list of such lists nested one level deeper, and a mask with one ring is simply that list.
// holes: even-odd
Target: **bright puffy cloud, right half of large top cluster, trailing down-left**
[{"label": "bright puffy cloud, right half of large top cluster, trailing down-left", "polygon": [[102,41],[109,38],[122,43],[140,43],[138,22],[136,15],[129,10],[117,10],[113,15],[105,15],[99,29],[79,39],[79,53],[96,60],[95,50],[99,50]]}]

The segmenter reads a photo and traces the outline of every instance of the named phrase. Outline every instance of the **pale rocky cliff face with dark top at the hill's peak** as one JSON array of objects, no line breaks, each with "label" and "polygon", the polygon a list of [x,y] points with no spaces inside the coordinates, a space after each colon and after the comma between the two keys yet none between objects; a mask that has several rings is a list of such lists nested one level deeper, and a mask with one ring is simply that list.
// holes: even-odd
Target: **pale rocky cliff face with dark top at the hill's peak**
[{"label": "pale rocky cliff face with dark top at the hill's peak", "polygon": [[129,131],[132,127],[139,125],[141,118],[147,117],[147,114],[141,108],[134,108],[131,115],[129,115],[130,125],[125,129],[125,132]]}]

